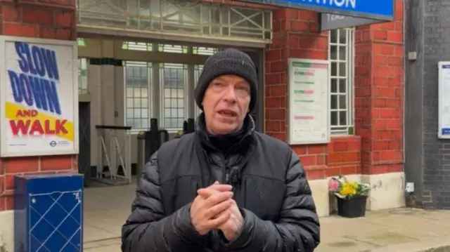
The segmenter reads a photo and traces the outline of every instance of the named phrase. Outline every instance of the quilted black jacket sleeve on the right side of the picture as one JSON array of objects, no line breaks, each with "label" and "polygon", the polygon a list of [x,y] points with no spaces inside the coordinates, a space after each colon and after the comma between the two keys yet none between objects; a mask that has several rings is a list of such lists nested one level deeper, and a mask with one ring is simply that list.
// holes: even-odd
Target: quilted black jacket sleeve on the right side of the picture
[{"label": "quilted black jacket sleeve on the right side of the picture", "polygon": [[302,164],[294,152],[285,178],[286,194],[277,223],[240,209],[245,219],[231,251],[312,252],[320,243],[319,216]]}]

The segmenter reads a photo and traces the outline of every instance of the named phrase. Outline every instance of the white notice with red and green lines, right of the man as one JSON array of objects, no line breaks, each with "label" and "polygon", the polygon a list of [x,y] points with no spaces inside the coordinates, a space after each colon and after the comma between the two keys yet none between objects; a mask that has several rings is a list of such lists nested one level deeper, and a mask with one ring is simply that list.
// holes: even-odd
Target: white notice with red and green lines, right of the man
[{"label": "white notice with red and green lines, right of the man", "polygon": [[290,145],[330,142],[328,60],[289,59]]}]

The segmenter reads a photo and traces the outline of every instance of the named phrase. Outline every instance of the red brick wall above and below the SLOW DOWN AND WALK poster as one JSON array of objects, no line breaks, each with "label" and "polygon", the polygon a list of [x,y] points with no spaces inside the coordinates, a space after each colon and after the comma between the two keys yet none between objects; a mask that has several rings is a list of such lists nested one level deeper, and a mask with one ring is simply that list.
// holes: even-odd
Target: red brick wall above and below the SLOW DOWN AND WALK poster
[{"label": "red brick wall above and below the SLOW DOWN AND WALK poster", "polygon": [[[1,4],[3,35],[75,40],[75,1],[40,0]],[[77,156],[20,157],[0,160],[0,211],[13,208],[13,175],[60,173],[77,169]]]}]

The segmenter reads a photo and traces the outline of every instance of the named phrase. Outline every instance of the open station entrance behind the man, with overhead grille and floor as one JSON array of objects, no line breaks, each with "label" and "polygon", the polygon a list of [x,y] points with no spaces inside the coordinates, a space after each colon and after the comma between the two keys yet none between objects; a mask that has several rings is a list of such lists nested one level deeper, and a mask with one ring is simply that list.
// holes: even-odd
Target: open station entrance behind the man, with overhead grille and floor
[{"label": "open station entrance behind the man, with overhead grille and floor", "polygon": [[127,16],[136,26],[124,29],[117,21],[123,17],[108,13],[123,6],[109,1],[79,6],[78,164],[79,173],[85,174],[86,241],[120,236],[135,196],[137,135],[156,119],[171,139],[184,121],[198,117],[193,93],[203,63],[214,52],[239,48],[255,62],[259,99],[252,117],[257,130],[264,131],[264,48],[271,39],[271,12],[191,1],[150,2],[165,13],[152,21],[158,32],[143,31],[142,16]]}]

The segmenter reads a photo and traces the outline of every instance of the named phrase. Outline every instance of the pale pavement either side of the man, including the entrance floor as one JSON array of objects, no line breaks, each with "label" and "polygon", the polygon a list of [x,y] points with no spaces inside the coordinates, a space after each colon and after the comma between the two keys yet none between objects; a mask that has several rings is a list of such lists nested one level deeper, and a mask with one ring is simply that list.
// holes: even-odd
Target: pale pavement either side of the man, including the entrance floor
[{"label": "pale pavement either side of the man, including the entrance floor", "polygon": [[[120,252],[118,237],[135,188],[127,185],[85,190],[85,251]],[[439,244],[450,245],[450,211],[399,208],[367,212],[365,218],[321,218],[321,245],[316,252],[412,252]]]}]

